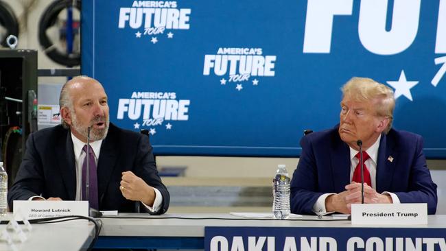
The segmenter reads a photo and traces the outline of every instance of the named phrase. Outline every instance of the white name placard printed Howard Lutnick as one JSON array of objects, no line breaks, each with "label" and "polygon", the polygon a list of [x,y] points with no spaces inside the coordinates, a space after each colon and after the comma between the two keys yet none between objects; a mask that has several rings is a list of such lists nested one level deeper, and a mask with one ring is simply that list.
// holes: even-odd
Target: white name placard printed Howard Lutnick
[{"label": "white name placard printed Howard Lutnick", "polygon": [[[16,213],[19,212],[19,213]],[[14,200],[14,215],[16,220],[19,215],[27,219],[39,219],[69,215],[89,216],[89,202],[73,200]]]}]

